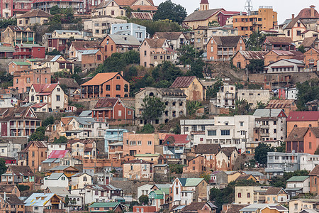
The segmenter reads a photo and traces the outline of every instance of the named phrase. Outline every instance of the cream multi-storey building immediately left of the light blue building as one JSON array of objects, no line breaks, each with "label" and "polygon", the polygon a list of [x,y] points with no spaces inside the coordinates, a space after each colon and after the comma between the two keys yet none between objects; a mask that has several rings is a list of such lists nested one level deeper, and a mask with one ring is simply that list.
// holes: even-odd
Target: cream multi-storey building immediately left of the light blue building
[{"label": "cream multi-storey building immediately left of the light blue building", "polygon": [[91,16],[90,19],[83,20],[83,22],[84,32],[91,33],[91,37],[93,38],[105,38],[106,35],[112,34],[111,26],[113,24],[126,23],[126,20],[122,20],[120,18],[112,18],[111,16],[96,15]]}]

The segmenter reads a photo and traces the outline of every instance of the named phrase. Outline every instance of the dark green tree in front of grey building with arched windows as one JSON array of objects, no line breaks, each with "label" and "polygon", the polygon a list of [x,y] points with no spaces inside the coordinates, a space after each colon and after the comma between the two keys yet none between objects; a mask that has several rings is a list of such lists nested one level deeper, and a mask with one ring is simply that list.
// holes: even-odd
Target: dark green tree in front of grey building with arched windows
[{"label": "dark green tree in front of grey building with arched windows", "polygon": [[165,104],[158,97],[146,96],[142,103],[142,118],[152,124],[152,120],[162,116],[165,110]]}]

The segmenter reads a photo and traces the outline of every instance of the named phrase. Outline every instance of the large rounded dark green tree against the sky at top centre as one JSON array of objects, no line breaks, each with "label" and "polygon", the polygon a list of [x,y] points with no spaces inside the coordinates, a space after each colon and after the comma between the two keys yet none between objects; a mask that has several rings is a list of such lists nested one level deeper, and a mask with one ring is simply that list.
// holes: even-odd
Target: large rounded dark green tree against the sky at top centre
[{"label": "large rounded dark green tree against the sky at top centre", "polygon": [[153,16],[153,20],[157,21],[169,19],[181,24],[186,16],[186,9],[183,6],[180,4],[174,4],[172,1],[167,0],[159,4],[156,13]]}]

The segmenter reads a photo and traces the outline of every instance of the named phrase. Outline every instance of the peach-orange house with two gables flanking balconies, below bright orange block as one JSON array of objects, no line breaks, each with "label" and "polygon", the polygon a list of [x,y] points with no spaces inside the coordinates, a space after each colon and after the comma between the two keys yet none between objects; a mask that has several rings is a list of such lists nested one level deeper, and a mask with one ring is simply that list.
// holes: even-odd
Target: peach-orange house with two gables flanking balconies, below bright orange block
[{"label": "peach-orange house with two gables flanking balconies, below bright orange block", "polygon": [[245,51],[245,40],[240,35],[213,35],[207,43],[207,59],[211,61],[228,61],[237,51]]}]

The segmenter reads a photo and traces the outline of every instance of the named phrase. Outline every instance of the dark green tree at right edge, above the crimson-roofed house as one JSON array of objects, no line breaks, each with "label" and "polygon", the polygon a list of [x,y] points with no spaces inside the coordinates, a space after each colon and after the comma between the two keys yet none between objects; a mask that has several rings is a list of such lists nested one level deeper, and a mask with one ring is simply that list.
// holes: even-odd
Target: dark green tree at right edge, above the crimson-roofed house
[{"label": "dark green tree at right edge, above the crimson-roofed house", "polygon": [[319,80],[318,78],[310,79],[306,82],[297,82],[297,107],[301,111],[306,111],[306,103],[319,99]]}]

